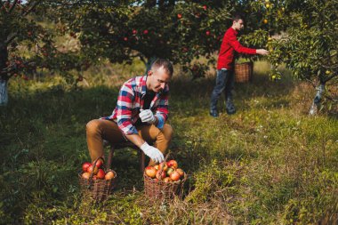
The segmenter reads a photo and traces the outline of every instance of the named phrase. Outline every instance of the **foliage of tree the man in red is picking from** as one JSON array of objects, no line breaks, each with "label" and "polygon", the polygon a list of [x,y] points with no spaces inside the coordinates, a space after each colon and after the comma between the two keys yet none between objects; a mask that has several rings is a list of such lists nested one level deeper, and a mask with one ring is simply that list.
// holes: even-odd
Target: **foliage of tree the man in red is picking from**
[{"label": "foliage of tree the man in red is picking from", "polygon": [[[281,78],[278,65],[285,63],[294,77],[317,89],[310,115],[336,105],[338,6],[335,0],[253,1],[248,9],[256,32],[244,36],[246,44],[266,44],[270,51],[272,79]],[[254,26],[251,26],[254,28]]]}]

